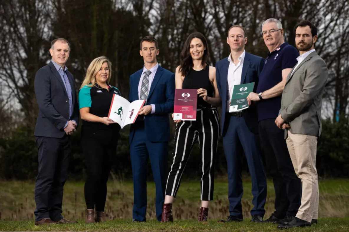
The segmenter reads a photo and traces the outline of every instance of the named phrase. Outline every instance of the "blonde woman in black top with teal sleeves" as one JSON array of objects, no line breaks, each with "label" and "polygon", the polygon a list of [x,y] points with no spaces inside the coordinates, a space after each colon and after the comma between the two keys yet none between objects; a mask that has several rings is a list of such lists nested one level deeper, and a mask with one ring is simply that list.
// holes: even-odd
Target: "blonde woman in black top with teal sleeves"
[{"label": "blonde woman in black top with teal sleeves", "polygon": [[107,117],[113,94],[120,95],[120,91],[109,84],[110,78],[110,61],[105,56],[97,57],[90,63],[79,92],[83,122],[81,144],[87,165],[84,186],[86,223],[106,220],[106,184],[120,130],[120,126]]}]

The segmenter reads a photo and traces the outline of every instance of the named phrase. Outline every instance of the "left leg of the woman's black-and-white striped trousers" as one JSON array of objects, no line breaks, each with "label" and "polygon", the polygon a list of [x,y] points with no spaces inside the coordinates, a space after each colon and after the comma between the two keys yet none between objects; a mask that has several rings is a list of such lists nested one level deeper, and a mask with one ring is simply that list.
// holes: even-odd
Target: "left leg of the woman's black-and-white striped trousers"
[{"label": "left leg of the woman's black-and-white striped trousers", "polygon": [[176,197],[185,165],[196,140],[192,121],[177,123],[174,136],[173,163],[167,178],[165,195]]}]

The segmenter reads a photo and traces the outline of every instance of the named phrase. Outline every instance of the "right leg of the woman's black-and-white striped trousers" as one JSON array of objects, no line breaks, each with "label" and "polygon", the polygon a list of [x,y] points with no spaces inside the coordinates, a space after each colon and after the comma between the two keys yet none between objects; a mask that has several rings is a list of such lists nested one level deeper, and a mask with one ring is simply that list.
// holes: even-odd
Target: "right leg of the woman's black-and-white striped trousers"
[{"label": "right leg of the woman's black-and-white striped trousers", "polygon": [[[196,118],[198,120],[198,118]],[[201,200],[213,200],[214,190],[214,165],[219,139],[219,116],[215,109],[202,109],[199,115],[201,127],[199,132],[199,149],[201,154]]]}]

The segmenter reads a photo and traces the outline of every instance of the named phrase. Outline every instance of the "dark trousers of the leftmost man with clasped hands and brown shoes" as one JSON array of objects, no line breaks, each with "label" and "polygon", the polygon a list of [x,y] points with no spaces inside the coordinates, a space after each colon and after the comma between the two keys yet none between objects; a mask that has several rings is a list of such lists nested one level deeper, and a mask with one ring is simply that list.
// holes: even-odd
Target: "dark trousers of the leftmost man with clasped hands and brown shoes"
[{"label": "dark trousers of the leftmost man with clasped hands and brown shoes", "polygon": [[58,222],[63,218],[63,186],[70,159],[70,138],[36,137],[39,173],[35,181],[35,221],[44,218]]}]

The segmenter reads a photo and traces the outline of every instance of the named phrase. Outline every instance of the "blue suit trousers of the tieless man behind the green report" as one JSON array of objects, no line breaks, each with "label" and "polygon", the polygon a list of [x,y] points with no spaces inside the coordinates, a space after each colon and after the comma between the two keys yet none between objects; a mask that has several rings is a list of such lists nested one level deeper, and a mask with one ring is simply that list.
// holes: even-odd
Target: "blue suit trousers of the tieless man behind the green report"
[{"label": "blue suit trousers of the tieless man behind the green report", "polygon": [[223,137],[223,147],[228,169],[228,199],[231,216],[243,218],[241,198],[242,186],[242,162],[245,153],[248,170],[252,180],[252,203],[254,207],[251,215],[265,214],[264,205],[267,198],[267,178],[261,158],[261,148],[258,134],[252,133],[245,122],[244,117],[225,116],[227,133]]}]

